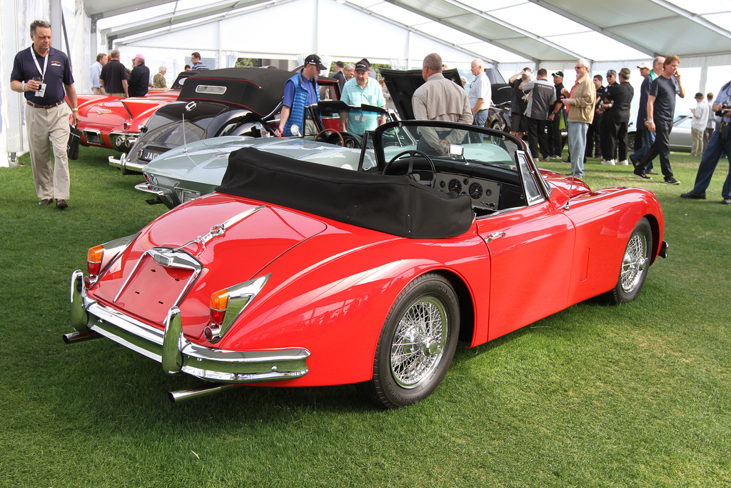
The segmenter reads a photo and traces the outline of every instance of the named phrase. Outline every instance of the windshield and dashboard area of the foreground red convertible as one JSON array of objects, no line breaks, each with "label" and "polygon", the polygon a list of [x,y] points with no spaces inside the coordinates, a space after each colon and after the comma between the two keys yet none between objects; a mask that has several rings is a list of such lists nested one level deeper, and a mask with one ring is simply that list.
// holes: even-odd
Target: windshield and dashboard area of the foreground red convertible
[{"label": "windshield and dashboard area of the foreground red convertible", "polygon": [[469,195],[478,216],[545,200],[550,187],[520,140],[443,121],[399,121],[368,132],[360,170],[407,175]]}]

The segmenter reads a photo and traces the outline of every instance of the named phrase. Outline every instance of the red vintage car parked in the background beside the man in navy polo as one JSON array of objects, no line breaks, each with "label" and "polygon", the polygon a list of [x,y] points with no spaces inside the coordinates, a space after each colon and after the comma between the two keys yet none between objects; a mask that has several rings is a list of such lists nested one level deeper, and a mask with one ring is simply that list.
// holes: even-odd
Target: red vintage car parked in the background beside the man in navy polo
[{"label": "red vintage car parked in the background beside the man in navy polo", "polygon": [[185,78],[196,73],[181,72],[170,89],[150,90],[145,97],[78,95],[79,124],[76,128],[81,131],[81,143],[84,146],[129,151],[140,136],[140,126],[144,126],[162,105],[174,102]]}]

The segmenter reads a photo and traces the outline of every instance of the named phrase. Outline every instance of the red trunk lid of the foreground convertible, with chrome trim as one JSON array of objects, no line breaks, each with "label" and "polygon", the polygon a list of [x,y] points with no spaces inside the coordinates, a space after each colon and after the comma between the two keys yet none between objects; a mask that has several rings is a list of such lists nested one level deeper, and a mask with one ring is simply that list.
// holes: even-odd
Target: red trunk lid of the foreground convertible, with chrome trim
[{"label": "red trunk lid of the foreground convertible, with chrome trim", "polygon": [[[289,249],[326,228],[321,220],[295,211],[213,193],[143,229],[99,279],[94,296],[162,326],[185,293],[183,331],[200,337],[212,293],[258,277]],[[199,274],[164,264],[149,253],[153,248],[200,263]]]}]

